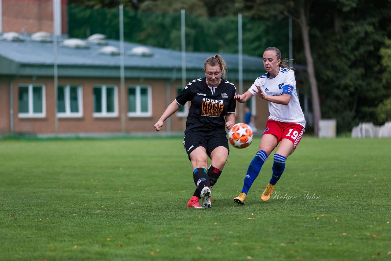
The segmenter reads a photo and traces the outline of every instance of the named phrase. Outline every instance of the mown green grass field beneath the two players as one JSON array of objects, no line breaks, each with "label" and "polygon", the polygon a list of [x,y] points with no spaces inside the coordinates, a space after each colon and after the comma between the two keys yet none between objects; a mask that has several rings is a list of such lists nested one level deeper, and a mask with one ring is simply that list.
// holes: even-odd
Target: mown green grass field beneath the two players
[{"label": "mown green grass field beneath the two players", "polygon": [[391,139],[304,137],[237,205],[259,142],[190,209],[181,138],[0,140],[0,260],[391,259]]}]

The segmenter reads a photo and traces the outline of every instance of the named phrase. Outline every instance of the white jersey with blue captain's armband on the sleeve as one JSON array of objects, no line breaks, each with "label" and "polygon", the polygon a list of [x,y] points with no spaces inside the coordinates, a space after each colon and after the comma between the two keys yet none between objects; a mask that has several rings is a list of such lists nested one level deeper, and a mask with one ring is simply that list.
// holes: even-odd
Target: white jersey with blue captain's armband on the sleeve
[{"label": "white jersey with blue captain's armband on the sleeve", "polygon": [[[299,97],[296,92],[296,79],[291,69],[281,68],[274,78],[267,77],[269,73],[258,77],[253,85],[248,89],[251,94],[256,95],[253,89],[255,85],[260,86],[265,95],[279,96],[283,93],[291,94],[291,100],[288,105],[269,103],[269,119],[280,122],[293,122],[300,124],[305,128],[305,119],[303,110],[301,110]],[[285,88],[284,88],[285,86]],[[289,88],[291,87],[291,88]],[[284,90],[284,92],[283,92]]]}]

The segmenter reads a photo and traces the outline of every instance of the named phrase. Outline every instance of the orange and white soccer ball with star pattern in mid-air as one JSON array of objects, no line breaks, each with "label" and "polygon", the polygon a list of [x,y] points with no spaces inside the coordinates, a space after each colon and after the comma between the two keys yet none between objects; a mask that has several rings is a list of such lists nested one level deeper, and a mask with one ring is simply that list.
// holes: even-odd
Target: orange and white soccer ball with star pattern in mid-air
[{"label": "orange and white soccer ball with star pattern in mid-air", "polygon": [[246,148],[253,141],[253,129],[246,123],[237,123],[228,132],[228,140],[235,148]]}]

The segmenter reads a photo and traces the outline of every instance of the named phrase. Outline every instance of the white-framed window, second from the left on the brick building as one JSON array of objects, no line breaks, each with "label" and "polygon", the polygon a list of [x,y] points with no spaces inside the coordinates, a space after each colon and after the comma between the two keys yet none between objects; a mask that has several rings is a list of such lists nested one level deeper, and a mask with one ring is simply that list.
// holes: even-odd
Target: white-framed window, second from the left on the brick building
[{"label": "white-framed window, second from the left on the brick building", "polygon": [[79,85],[59,85],[57,87],[57,116],[82,117],[83,94]]}]

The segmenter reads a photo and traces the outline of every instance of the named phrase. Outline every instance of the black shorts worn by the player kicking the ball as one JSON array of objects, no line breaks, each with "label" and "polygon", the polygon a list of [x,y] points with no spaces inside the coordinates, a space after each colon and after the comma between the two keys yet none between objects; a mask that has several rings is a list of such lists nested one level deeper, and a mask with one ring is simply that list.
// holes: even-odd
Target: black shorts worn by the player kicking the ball
[{"label": "black shorts worn by the player kicking the ball", "polygon": [[206,154],[208,154],[209,158],[213,149],[219,146],[227,148],[228,154],[230,154],[227,133],[223,129],[213,131],[189,131],[185,134],[185,138],[183,139],[183,146],[185,146],[185,151],[187,152],[187,155],[189,155],[189,160],[190,153],[199,146],[202,146],[206,149]]}]

